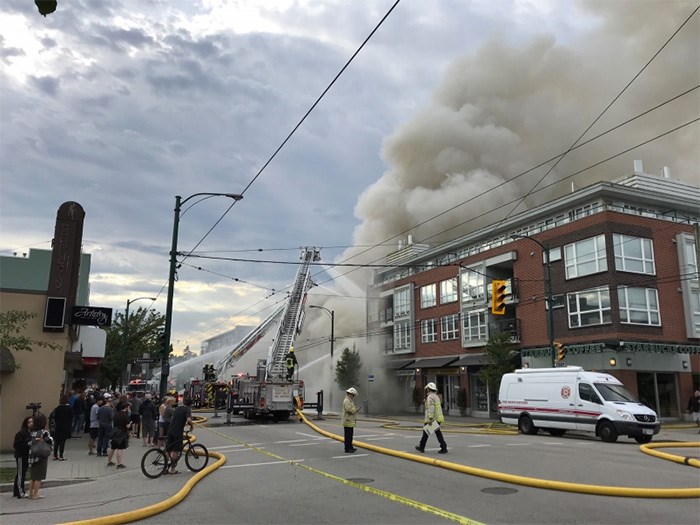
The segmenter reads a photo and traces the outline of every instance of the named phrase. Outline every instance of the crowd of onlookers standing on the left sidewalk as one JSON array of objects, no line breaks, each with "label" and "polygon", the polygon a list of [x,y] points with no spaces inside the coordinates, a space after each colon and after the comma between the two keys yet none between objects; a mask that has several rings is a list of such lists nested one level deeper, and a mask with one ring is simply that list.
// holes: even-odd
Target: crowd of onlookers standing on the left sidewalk
[{"label": "crowd of onlookers standing on the left sidewalk", "polygon": [[[49,416],[35,411],[26,417],[15,435],[14,451],[17,464],[14,496],[40,499],[41,481],[46,479],[48,462],[52,456],[46,448],[36,444],[44,441],[50,446],[53,461],[67,461],[68,439],[84,439],[87,435],[87,454],[107,459],[108,467],[124,469],[123,451],[129,438],[143,440],[143,447],[159,444],[168,433],[177,398],[146,393],[123,394],[106,390],[69,391],[60,396],[58,405]],[[44,456],[48,453],[47,456]],[[25,491],[27,472],[31,475],[29,493]]]}]

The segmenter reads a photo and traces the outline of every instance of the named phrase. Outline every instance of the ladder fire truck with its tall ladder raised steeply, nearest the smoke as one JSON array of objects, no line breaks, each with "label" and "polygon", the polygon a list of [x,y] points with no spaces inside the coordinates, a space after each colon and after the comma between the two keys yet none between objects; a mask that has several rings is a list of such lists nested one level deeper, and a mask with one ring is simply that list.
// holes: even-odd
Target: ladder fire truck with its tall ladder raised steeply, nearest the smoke
[{"label": "ladder fire truck with its tall ladder raised steeply, nearest the smoke", "polygon": [[295,398],[304,398],[304,382],[298,377],[287,379],[285,360],[304,323],[306,294],[315,286],[311,280],[311,267],[312,263],[321,260],[319,249],[302,248],[300,259],[302,262],[280,315],[267,359],[258,360],[256,375],[239,375],[233,379],[232,410],[242,412],[246,419],[272,417],[278,421],[287,420],[296,409]]}]

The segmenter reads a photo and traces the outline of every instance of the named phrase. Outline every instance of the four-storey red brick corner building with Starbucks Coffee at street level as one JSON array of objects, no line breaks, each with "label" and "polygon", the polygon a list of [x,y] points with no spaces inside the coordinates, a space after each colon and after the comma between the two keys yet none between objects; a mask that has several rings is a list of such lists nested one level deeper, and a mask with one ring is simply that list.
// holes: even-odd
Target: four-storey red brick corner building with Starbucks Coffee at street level
[{"label": "four-storey red brick corner building with Starbucks Coffee at street level", "polygon": [[[636,162],[630,176],[440,246],[409,237],[368,288],[370,341],[406,407],[434,381],[449,409],[464,388],[469,414],[493,416],[497,392],[478,372],[489,338],[507,333],[514,366],[552,366],[560,342],[562,364],[610,373],[679,419],[700,371],[699,216],[697,186]],[[494,279],[506,284],[502,315]]]}]

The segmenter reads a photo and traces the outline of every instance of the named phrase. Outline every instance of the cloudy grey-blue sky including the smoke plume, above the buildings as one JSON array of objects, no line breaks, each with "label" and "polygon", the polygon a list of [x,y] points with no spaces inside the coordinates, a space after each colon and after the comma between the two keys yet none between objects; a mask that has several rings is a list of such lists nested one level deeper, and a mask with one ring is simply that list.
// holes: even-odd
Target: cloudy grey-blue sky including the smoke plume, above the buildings
[{"label": "cloudy grey-blue sky including the smoke plume, above the buildings", "polygon": [[[309,302],[361,344],[371,275],[340,263],[380,263],[409,233],[453,239],[629,175],[634,159],[698,183],[697,7],[59,0],[42,17],[4,0],[0,255],[50,249],[58,208],[76,201],[90,303],[155,297],[132,311],[164,312],[175,196],[238,193],[183,206],[175,352],[257,325],[302,246],[326,265]],[[322,311],[308,319],[308,344],[327,337]]]}]

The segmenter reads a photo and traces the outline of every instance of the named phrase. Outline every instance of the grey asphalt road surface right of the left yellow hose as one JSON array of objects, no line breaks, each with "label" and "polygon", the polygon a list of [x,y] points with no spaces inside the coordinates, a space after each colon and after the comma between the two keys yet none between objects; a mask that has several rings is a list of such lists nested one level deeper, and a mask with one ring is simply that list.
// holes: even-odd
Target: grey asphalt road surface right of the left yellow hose
[{"label": "grey asphalt road surface right of the left yellow hose", "polygon": [[[342,435],[337,419],[313,421]],[[697,435],[688,431],[687,440]],[[338,441],[301,423],[220,426],[197,431],[227,463],[182,504],[146,523],[605,523],[697,524],[699,499],[577,494],[452,472]],[[668,439],[668,437],[662,439]],[[675,437],[675,436],[674,436]],[[410,454],[419,433],[361,420],[356,441]],[[583,435],[446,433],[423,457],[488,471],[590,485],[694,488],[698,469],[643,454],[633,440],[603,443]],[[669,450],[694,454],[697,449]]]}]

